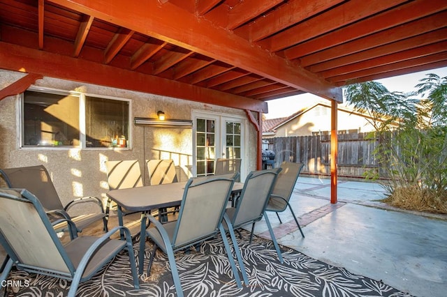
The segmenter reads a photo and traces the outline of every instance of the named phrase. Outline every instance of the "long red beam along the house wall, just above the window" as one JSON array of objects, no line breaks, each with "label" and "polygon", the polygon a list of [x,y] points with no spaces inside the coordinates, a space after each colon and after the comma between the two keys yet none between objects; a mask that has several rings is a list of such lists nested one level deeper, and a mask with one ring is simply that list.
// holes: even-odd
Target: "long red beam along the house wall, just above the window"
[{"label": "long red beam along the house wall, just above the window", "polygon": [[0,41],[0,68],[15,70],[22,68],[29,73],[70,79],[101,86],[110,86],[143,93],[186,99],[237,109],[267,112],[266,102],[251,98],[205,89],[154,75],[145,75],[101,63],[95,63],[71,56],[30,50],[19,45]]}]

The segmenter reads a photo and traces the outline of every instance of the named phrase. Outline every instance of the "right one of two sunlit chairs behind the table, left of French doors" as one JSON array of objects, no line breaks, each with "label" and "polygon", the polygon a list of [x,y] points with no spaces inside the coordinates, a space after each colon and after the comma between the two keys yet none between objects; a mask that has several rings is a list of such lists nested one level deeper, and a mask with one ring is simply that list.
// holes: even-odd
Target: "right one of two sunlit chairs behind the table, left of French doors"
[{"label": "right one of two sunlit chairs behind the table, left of French doors", "polygon": [[[163,185],[166,183],[177,183],[177,171],[175,169],[174,160],[146,160],[147,172],[149,172],[150,185]],[[159,221],[167,222],[168,214],[178,211],[178,206],[174,209],[160,208]]]}]

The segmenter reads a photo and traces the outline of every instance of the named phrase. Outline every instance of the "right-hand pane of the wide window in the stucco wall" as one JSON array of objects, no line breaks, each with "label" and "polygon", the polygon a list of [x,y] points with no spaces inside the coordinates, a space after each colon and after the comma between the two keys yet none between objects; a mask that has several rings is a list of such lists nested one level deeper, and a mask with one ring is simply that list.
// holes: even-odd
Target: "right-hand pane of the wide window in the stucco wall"
[{"label": "right-hand pane of the wide window in the stucco wall", "polygon": [[129,102],[105,98],[85,98],[87,147],[127,147]]}]

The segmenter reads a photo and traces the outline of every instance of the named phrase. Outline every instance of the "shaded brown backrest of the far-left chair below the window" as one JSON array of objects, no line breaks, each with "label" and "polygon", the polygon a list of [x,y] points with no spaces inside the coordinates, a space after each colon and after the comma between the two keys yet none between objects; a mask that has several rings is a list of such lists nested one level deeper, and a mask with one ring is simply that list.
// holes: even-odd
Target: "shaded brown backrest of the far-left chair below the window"
[{"label": "shaded brown backrest of the far-left chair below the window", "polygon": [[47,210],[64,209],[43,165],[0,169],[0,174],[10,188],[24,188],[33,193]]}]

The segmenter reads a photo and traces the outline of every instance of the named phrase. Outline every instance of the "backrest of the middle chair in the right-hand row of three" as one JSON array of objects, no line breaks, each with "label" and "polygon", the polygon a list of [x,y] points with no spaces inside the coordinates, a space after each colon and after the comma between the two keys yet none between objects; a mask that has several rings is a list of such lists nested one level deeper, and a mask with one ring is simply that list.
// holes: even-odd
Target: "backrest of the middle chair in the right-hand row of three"
[{"label": "backrest of the middle chair in the right-hand row of three", "polygon": [[281,168],[250,172],[237,200],[233,227],[261,220]]}]

